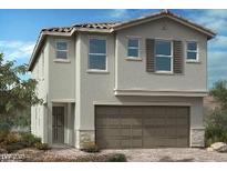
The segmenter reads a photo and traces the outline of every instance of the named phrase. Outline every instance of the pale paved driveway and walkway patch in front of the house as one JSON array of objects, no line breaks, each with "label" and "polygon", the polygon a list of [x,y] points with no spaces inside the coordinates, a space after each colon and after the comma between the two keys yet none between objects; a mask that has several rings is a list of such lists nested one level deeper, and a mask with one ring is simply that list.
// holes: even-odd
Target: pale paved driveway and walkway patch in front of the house
[{"label": "pale paved driveway and walkway patch in front of the house", "polygon": [[[168,148],[168,149],[130,149],[130,150],[102,150],[99,154],[124,153],[131,162],[204,162],[204,161],[227,161],[227,153],[208,152],[205,149],[195,148]],[[60,155],[86,155],[80,150],[52,149],[51,153]]]}]

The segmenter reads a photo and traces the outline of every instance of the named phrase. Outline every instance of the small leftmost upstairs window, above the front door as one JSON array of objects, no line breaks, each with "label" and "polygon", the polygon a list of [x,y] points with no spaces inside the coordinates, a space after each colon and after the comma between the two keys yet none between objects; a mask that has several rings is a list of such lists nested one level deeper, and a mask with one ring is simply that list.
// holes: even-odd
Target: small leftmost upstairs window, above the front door
[{"label": "small leftmost upstairs window, above the front door", "polygon": [[66,41],[56,42],[56,59],[68,59],[68,42]]}]

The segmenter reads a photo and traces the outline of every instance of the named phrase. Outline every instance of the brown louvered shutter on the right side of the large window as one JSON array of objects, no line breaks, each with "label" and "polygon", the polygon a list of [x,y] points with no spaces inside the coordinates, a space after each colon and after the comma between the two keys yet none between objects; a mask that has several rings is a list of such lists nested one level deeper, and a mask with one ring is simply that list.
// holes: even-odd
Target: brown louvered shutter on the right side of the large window
[{"label": "brown louvered shutter on the right side of the large window", "polygon": [[183,42],[174,40],[174,73],[183,73]]}]

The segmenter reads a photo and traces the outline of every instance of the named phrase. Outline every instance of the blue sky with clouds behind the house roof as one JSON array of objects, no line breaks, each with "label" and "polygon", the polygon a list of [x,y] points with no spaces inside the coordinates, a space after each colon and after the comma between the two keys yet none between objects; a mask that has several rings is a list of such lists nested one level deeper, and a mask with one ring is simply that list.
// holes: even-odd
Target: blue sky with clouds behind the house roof
[{"label": "blue sky with clouds behind the house roof", "polygon": [[[159,10],[0,10],[0,52],[18,64],[28,63],[42,28],[83,22],[124,21]],[[208,43],[208,86],[227,80],[227,10],[172,10],[213,29],[218,36]]]}]

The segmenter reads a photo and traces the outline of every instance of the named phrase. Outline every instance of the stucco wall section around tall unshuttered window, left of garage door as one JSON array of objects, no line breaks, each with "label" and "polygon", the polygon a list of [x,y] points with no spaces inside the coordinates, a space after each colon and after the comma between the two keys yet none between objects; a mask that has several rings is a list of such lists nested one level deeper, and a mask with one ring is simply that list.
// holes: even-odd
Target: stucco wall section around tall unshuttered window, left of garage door
[{"label": "stucco wall section around tall unshuttered window, left of garage door", "polygon": [[[89,58],[89,38],[95,34],[81,34],[81,118],[80,129],[94,129],[94,108],[91,107],[95,100],[107,100],[113,98],[114,89],[114,37],[113,36],[99,36],[106,39],[107,46],[107,72],[106,73],[91,73],[87,72],[87,58]],[[89,108],[87,108],[89,107]],[[85,113],[85,114],[82,114]]]}]

